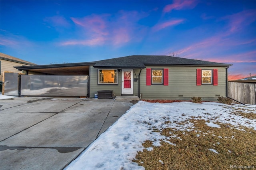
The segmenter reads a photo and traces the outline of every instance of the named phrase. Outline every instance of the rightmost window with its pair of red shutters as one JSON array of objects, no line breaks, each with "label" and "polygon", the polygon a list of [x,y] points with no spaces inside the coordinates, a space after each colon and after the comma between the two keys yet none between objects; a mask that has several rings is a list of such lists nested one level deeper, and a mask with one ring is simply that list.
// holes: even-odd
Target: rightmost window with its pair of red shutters
[{"label": "rightmost window with its pair of red shutters", "polygon": [[196,85],[218,85],[218,69],[196,69]]}]

